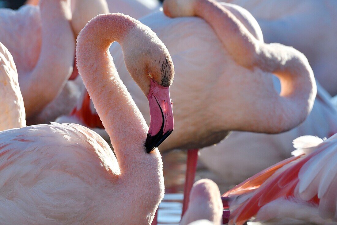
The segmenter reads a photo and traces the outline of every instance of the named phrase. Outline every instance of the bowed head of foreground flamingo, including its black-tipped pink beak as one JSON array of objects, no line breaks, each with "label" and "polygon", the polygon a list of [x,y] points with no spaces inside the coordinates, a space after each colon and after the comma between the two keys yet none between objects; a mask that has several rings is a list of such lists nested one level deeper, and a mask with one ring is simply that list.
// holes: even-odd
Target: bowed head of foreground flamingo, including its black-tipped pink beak
[{"label": "bowed head of foreground flamingo, including its black-tipped pink beak", "polygon": [[132,31],[136,29],[131,29],[123,41],[127,44],[121,45],[127,70],[149,100],[151,120],[145,149],[150,153],[173,131],[170,85],[174,66],[168,50],[157,35],[147,26],[139,26],[146,32],[135,35]]}]

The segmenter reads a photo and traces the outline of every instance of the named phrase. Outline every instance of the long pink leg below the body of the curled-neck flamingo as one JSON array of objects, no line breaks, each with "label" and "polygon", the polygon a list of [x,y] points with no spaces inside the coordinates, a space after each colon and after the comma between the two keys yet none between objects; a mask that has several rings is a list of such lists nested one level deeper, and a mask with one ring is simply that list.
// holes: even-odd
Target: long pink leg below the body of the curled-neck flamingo
[{"label": "long pink leg below the body of the curled-neck flamingo", "polygon": [[183,212],[182,215],[187,210],[189,195],[194,183],[195,171],[196,171],[196,163],[198,161],[198,151],[199,149],[189,149],[187,150],[187,169],[185,176],[185,186],[184,186],[184,200],[183,200]]}]

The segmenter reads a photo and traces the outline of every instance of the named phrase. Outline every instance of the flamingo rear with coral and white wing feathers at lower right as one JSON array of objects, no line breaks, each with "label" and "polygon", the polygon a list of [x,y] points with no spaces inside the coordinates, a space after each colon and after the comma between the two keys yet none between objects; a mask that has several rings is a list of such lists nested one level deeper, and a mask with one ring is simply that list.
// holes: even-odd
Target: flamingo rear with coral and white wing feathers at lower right
[{"label": "flamingo rear with coral and white wing feathers at lower right", "polygon": [[294,140],[294,157],[254,175],[224,194],[229,225],[255,217],[263,224],[337,224],[337,135]]}]

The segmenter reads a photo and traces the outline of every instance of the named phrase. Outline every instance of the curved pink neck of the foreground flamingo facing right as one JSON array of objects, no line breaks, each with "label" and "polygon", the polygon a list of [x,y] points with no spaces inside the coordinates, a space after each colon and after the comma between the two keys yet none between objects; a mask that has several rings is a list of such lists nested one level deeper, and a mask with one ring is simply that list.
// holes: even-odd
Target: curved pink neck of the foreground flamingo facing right
[{"label": "curved pink neck of the foreground flamingo facing right", "polygon": [[109,134],[121,171],[132,164],[130,160],[140,160],[137,156],[146,154],[148,126],[118,76],[109,46],[114,41],[123,46],[123,39],[137,23],[123,14],[95,17],[81,31],[76,47],[79,72]]}]

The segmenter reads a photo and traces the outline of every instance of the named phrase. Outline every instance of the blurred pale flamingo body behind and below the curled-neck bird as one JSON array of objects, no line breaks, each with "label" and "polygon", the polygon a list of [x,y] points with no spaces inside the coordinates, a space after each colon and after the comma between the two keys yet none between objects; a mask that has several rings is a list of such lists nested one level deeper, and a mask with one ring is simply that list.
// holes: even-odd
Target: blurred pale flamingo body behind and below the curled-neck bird
[{"label": "blurred pale flamingo body behind and below the curled-neck bird", "polygon": [[[275,83],[275,89],[279,90],[278,83]],[[298,127],[280,134],[233,131],[216,146],[202,149],[199,158],[226,184],[234,185],[289,157],[295,150],[290,140],[301,135],[329,137],[336,132],[336,105],[332,104],[329,93],[318,84],[311,113]]]}]

